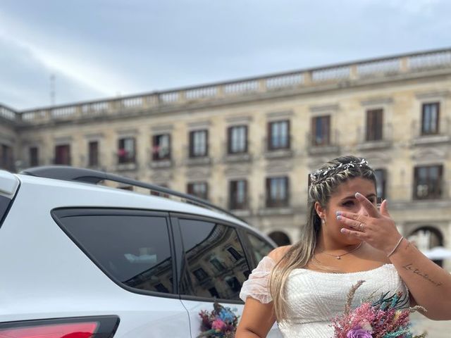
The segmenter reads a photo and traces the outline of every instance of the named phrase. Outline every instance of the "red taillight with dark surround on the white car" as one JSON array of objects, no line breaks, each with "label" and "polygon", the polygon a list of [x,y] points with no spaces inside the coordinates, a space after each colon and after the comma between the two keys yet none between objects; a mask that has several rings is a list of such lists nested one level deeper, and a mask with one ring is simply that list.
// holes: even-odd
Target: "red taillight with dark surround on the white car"
[{"label": "red taillight with dark surround on the white car", "polygon": [[0,338],[111,338],[116,315],[0,323]]}]

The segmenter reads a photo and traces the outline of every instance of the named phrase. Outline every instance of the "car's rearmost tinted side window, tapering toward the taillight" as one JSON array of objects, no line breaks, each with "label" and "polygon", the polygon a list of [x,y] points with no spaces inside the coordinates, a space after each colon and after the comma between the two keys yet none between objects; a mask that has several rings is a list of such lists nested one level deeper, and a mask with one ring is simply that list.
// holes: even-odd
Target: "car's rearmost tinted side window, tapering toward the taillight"
[{"label": "car's rearmost tinted side window, tapering toward the taillight", "polygon": [[87,256],[116,281],[140,290],[173,292],[173,259],[166,218],[72,215],[59,220]]}]

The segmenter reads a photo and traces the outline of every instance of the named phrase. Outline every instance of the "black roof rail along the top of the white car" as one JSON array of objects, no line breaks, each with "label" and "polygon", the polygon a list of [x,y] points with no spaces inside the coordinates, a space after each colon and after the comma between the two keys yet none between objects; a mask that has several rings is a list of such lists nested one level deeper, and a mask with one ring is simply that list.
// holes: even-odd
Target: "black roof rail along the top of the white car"
[{"label": "black roof rail along the top of the white car", "polygon": [[106,173],[104,171],[92,170],[87,168],[76,168],[66,165],[44,165],[40,167],[24,169],[20,171],[20,174],[36,177],[53,178],[55,180],[75,181],[91,184],[98,184],[99,182],[104,180],[128,184],[134,187],[141,187],[144,189],[152,190],[154,192],[159,192],[161,194],[177,196],[180,199],[185,200],[187,203],[196,204],[198,206],[203,206],[204,208],[213,209],[215,211],[220,211],[221,213],[225,213],[226,215],[229,215],[237,220],[247,223],[246,220],[243,220],[237,215],[234,215],[230,211],[227,211],[226,209],[223,209],[219,206],[215,206],[214,204],[211,204],[209,201],[205,201],[204,199],[199,199],[196,196],[184,194],[183,192],[177,192],[173,189],[160,187],[159,185],[156,184],[145,183],[138,180],[133,180],[132,178]]}]

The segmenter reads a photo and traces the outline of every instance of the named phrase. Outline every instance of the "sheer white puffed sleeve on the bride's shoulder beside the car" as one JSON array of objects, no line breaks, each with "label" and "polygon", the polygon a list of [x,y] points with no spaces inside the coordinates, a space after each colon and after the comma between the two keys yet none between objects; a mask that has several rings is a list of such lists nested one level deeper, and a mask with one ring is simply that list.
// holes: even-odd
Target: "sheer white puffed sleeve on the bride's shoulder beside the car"
[{"label": "sheer white puffed sleeve on the bride's shoulder beside the car", "polygon": [[264,304],[270,303],[273,300],[269,292],[268,283],[269,275],[274,265],[276,263],[268,256],[264,256],[261,259],[257,268],[252,270],[248,280],[242,284],[240,292],[240,299],[242,301],[246,301],[249,296]]}]

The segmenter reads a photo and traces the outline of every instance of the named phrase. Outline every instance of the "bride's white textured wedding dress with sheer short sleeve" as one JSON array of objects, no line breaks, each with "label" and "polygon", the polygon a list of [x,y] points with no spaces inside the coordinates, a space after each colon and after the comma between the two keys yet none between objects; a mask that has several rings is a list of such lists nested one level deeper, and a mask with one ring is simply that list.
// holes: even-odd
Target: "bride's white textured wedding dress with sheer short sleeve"
[{"label": "bride's white textured wedding dress with sheer short sleeve", "polygon": [[[268,277],[275,262],[265,256],[252,270],[249,279],[242,284],[240,298],[248,296],[261,303],[272,301],[268,290]],[[333,337],[333,318],[343,313],[347,294],[352,285],[364,280],[354,295],[352,308],[362,300],[378,299],[381,293],[403,292],[407,288],[393,264],[357,273],[321,273],[307,269],[295,269],[288,277],[285,297],[288,319],[278,323],[285,338],[330,338]]]}]

